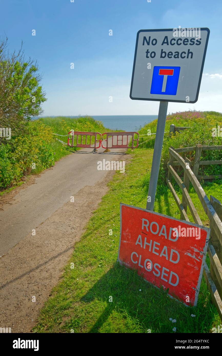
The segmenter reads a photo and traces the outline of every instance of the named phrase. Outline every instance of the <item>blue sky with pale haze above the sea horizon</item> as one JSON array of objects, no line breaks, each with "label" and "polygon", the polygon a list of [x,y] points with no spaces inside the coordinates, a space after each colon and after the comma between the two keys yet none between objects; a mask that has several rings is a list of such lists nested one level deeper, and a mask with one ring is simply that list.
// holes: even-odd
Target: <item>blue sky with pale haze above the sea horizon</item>
[{"label": "blue sky with pale haze above the sea horizon", "polygon": [[8,49],[19,49],[23,41],[26,57],[38,61],[47,97],[44,115],[158,114],[158,102],[129,98],[136,33],[178,26],[208,27],[211,33],[197,103],[169,103],[168,112],[222,111],[221,0],[1,0],[0,5],[0,35],[8,37]]}]

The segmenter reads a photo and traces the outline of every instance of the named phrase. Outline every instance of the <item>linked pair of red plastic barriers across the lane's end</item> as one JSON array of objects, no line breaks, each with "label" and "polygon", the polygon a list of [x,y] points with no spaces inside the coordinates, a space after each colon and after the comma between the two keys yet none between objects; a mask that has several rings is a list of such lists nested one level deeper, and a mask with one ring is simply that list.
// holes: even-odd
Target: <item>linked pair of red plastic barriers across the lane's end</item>
[{"label": "linked pair of red plastic barriers across the lane's end", "polygon": [[[69,131],[68,135],[72,135],[71,138],[68,137],[67,145],[69,147],[85,147],[94,148],[93,152],[100,147],[100,145],[105,148],[104,152],[108,152],[109,148],[137,148],[139,143],[139,133],[138,132],[86,132],[86,131]],[[137,138],[135,138],[137,135]],[[106,136],[106,138],[104,138]],[[94,142],[92,138],[94,137]],[[99,138],[98,138],[99,137]],[[109,139],[109,137],[111,137]],[[132,142],[130,142],[132,140]],[[70,144],[70,141],[72,143]],[[103,141],[106,145],[103,145]]]}]

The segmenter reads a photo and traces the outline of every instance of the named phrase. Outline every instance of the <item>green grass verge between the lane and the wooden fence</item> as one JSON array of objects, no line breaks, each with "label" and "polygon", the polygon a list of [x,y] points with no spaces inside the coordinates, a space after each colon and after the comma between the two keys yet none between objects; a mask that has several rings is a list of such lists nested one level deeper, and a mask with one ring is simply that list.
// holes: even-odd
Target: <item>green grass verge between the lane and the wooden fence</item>
[{"label": "green grass verge between the lane and the wooden fence", "polygon": [[[197,307],[189,308],[116,262],[119,203],[145,208],[149,180],[146,167],[151,167],[152,155],[152,149],[135,150],[125,173],[114,174],[108,193],[75,245],[61,282],[41,310],[35,332],[147,333],[151,329],[154,333],[173,333],[176,327],[178,333],[208,333],[220,325],[203,279]],[[208,184],[206,193],[221,199],[220,187]],[[207,222],[200,202],[194,195],[193,199],[200,217]],[[159,189],[154,210],[179,218],[179,210],[165,187]],[[109,235],[109,229],[113,235]],[[169,318],[176,319],[176,323]]]}]

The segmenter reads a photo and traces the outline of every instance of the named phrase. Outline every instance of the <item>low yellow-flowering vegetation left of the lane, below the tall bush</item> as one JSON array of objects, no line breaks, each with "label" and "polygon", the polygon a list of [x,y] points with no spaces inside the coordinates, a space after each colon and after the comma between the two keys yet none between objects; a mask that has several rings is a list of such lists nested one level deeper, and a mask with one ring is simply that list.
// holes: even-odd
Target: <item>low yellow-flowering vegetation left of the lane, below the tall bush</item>
[{"label": "low yellow-flowering vegetation left of the lane, below the tall bush", "polygon": [[[51,167],[55,161],[76,148],[70,148],[57,141],[67,143],[67,135],[75,131],[103,131],[103,124],[92,117],[45,117],[23,123],[23,129],[11,140],[0,144],[0,189],[9,188],[30,173],[39,173]],[[35,168],[33,164],[35,163]]]}]

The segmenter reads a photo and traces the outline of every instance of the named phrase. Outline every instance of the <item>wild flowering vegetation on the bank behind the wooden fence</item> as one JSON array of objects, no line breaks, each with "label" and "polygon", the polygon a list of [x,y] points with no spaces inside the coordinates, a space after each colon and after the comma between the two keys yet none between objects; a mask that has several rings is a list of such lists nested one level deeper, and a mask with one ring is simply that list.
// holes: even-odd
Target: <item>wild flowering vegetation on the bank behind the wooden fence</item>
[{"label": "wild flowering vegetation on the bank behind the wooden fence", "polygon": [[[169,136],[170,125],[189,127],[189,129],[175,132],[174,135]],[[155,135],[147,136],[148,130],[151,133],[156,132],[157,120],[150,122],[139,130],[141,136],[140,148],[154,148]],[[220,146],[222,145],[221,136],[212,136],[213,128],[222,127],[222,114],[215,111],[184,111],[176,112],[175,114],[167,115],[164,142],[162,147],[161,164],[159,171],[159,188],[160,184],[165,184],[165,177],[167,174],[167,162],[169,162],[169,147],[182,148],[193,147],[200,143],[202,146]],[[146,142],[145,142],[146,141]],[[185,156],[185,154],[181,154]],[[195,151],[187,152],[186,157],[193,161]],[[221,151],[202,151],[201,160],[211,161],[221,159]],[[202,172],[201,172],[202,171]],[[200,166],[200,172],[204,175],[222,174],[222,165]],[[146,177],[145,179],[148,179]],[[147,183],[148,184],[148,183]]]}]

